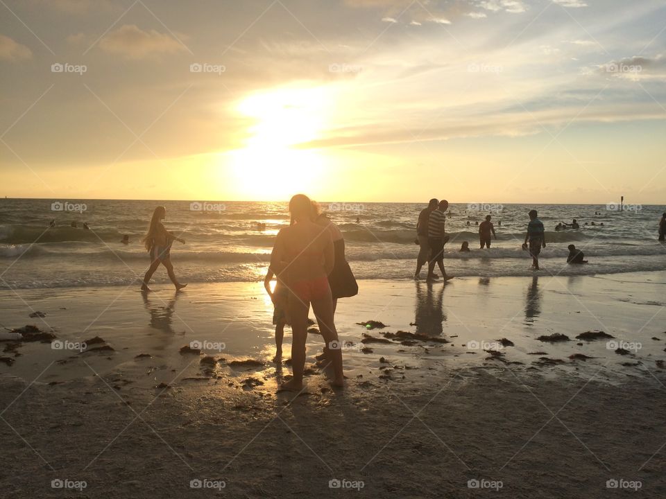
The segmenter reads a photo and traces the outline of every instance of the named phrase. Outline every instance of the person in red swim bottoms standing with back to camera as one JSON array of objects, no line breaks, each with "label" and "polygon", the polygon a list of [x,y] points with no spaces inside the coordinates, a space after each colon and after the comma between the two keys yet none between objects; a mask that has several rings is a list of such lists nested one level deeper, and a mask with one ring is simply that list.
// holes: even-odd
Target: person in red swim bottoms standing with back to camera
[{"label": "person in red swim bottoms standing with back to camera", "polygon": [[289,201],[293,222],[284,227],[275,238],[271,254],[271,270],[278,281],[289,289],[287,308],[291,319],[291,365],[293,378],[281,389],[300,391],[305,368],[305,341],[307,340],[307,314],[310,305],[320,324],[320,332],[333,363],[332,385],[342,387],[342,351],[334,324],[334,308],[328,275],[334,269],[335,250],[329,230],[312,221],[312,204],[303,194]]}]

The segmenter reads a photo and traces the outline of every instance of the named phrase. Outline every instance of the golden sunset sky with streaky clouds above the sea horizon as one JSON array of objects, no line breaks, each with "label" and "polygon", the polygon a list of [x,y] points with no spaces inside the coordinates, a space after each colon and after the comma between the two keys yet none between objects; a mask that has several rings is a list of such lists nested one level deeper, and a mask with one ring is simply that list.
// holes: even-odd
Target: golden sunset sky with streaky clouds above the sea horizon
[{"label": "golden sunset sky with streaky clouds above the sea horizon", "polygon": [[0,0],[0,195],[664,204],[663,0]]}]

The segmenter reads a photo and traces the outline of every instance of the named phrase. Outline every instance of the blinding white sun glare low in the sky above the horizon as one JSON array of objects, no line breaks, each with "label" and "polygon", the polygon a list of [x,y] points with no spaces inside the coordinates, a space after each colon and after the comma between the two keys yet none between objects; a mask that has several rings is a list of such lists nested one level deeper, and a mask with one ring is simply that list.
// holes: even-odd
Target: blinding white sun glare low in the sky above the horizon
[{"label": "blinding white sun glare low in the sky above the horizon", "polygon": [[321,137],[330,96],[322,88],[266,91],[241,100],[253,124],[242,149],[228,153],[235,190],[246,199],[287,199],[321,180],[325,158],[296,144]]}]

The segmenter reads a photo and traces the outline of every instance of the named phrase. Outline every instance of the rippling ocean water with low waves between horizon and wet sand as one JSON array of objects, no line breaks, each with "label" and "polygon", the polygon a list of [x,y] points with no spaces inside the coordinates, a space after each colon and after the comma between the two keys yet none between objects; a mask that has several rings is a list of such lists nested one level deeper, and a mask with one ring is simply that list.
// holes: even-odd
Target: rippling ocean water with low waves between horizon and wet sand
[{"label": "rippling ocean water with low waves between horizon and wet sand", "polygon": [[[286,202],[0,200],[0,287],[129,286],[149,264],[140,242],[153,209],[167,208],[164,225],[185,238],[171,259],[181,282],[259,281],[281,227]],[[357,279],[410,279],[418,246],[416,218],[425,203],[321,203],[342,230]],[[594,204],[451,204],[445,247],[447,272],[457,277],[528,276],[531,259],[521,248],[527,211],[537,209],[547,230],[542,273],[614,274],[665,270],[666,245],[657,240],[664,206]],[[598,213],[598,214],[595,214]],[[476,222],[493,216],[497,240],[479,249]],[[577,218],[580,229],[555,231]],[[49,228],[49,222],[56,227]],[[358,222],[357,222],[358,220]],[[78,227],[71,227],[71,222]],[[470,225],[467,225],[467,222]],[[90,230],[82,228],[87,222]],[[499,225],[501,222],[501,225]],[[592,222],[595,225],[592,225]],[[585,224],[588,225],[585,225]],[[601,224],[604,224],[601,226]],[[258,226],[265,224],[265,228]],[[129,245],[120,241],[128,234]],[[461,253],[463,240],[472,252]],[[583,250],[588,265],[566,265],[567,245]],[[422,272],[425,275],[425,270]],[[160,268],[153,277],[169,282]]]}]

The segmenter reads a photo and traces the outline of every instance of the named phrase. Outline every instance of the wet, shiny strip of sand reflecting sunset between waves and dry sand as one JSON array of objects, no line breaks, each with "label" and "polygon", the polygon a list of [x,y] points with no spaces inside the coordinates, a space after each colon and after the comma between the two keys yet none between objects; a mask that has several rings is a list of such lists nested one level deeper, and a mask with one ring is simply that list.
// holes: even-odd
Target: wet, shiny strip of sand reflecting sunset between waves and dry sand
[{"label": "wet, shiny strip of sand reflecting sunset between waves and dry sand", "polygon": [[[621,364],[654,365],[656,360],[666,358],[666,334],[658,327],[658,315],[666,305],[660,299],[660,286],[664,284],[666,272],[631,272],[614,277],[457,278],[447,286],[431,286],[423,281],[361,280],[359,296],[339,301],[336,326],[341,341],[346,342],[345,364],[352,371],[364,369],[382,356],[417,365],[431,362],[438,368],[451,367],[447,362],[467,367],[488,361],[530,366],[538,360],[531,354],[538,351],[546,351],[562,368],[572,364],[567,357],[576,353],[591,357],[588,362],[574,364],[579,368],[605,360],[616,367],[618,359],[622,359]],[[624,290],[627,286],[631,291]],[[201,343],[204,354],[230,360],[255,358],[271,364],[275,353],[273,307],[262,283],[210,283],[189,286],[179,293],[164,285],[155,289],[147,295],[134,286],[67,288],[57,295],[49,290],[21,290],[20,296],[0,291],[4,326],[11,329],[34,324],[45,331],[53,330],[58,340],[74,344],[60,351],[44,349],[39,343],[23,344],[19,351],[24,356],[17,357],[11,367],[0,365],[0,372],[29,379],[31,372],[49,361],[65,366],[56,370],[67,371],[71,365],[80,368],[81,358],[95,358],[101,368],[108,369],[106,365],[115,367],[142,353],[180,365],[179,349],[191,342]],[[29,313],[44,313],[44,317],[28,317],[26,306]],[[480,315],[479,310],[483,311]],[[366,331],[357,324],[366,320],[387,326]],[[386,338],[386,333],[395,335],[398,331],[422,338]],[[585,331],[606,331],[613,337],[606,338],[606,342],[640,345],[618,356],[606,342],[575,338]],[[284,359],[290,356],[289,327],[285,333]],[[569,340],[536,339],[556,333],[567,335]],[[76,344],[95,337],[103,338],[112,348],[106,362],[99,362],[99,354],[76,351]],[[444,338],[446,342],[427,341],[427,337]],[[502,338],[513,345],[497,344]],[[321,336],[309,335],[308,361],[321,349],[321,342]],[[478,346],[469,348],[470,342]],[[206,344],[212,349],[207,351]],[[498,350],[500,355],[489,359],[484,350]],[[24,358],[36,362],[25,362]]]}]

